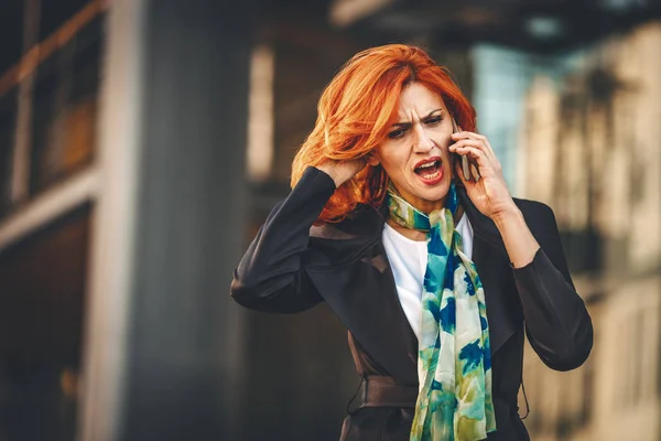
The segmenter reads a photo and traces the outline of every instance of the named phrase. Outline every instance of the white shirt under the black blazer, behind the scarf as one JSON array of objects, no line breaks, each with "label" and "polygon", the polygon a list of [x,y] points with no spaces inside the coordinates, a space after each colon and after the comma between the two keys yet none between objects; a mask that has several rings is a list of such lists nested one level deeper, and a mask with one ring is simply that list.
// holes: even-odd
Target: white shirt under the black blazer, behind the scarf
[{"label": "white shirt under the black blazer, behind the scarf", "polygon": [[[465,213],[456,225],[456,230],[462,235],[464,254],[473,259],[473,226]],[[427,244],[424,240],[412,240],[402,236],[388,223],[383,226],[382,240],[394,276],[400,303],[411,323],[411,329],[420,338],[422,284],[426,270]]]}]

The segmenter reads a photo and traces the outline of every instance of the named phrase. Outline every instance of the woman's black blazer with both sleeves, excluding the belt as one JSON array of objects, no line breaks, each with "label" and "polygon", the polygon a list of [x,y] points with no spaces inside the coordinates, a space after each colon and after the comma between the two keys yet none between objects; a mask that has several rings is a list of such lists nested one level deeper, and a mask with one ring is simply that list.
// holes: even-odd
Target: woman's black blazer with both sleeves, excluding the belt
[{"label": "woman's black blazer with both sleeves, excluding the belt", "polygon": [[[359,374],[389,375],[416,386],[418,340],[381,243],[387,207],[361,206],[342,223],[313,226],[334,191],[327,174],[305,171],[250,244],[235,271],[231,295],[246,308],[277,313],[325,301],[349,332]],[[551,208],[514,200],[541,246],[531,263],[514,269],[496,225],[463,189],[459,198],[474,228],[473,261],[489,321],[498,430],[488,440],[525,440],[517,407],[524,332],[549,367],[568,370],[592,349],[592,322],[574,290]],[[364,408],[345,419],[342,439],[407,440],[412,418],[411,409]]]}]

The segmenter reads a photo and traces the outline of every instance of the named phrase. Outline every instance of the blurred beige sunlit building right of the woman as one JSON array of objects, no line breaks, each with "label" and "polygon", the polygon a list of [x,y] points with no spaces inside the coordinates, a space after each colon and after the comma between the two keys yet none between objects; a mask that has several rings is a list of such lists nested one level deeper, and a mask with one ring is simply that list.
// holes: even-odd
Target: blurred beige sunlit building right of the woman
[{"label": "blurred beige sunlit building right of the woman", "polygon": [[535,439],[661,439],[660,46],[655,21],[555,56],[524,100],[520,191],[554,207],[596,332],[576,372],[527,357]]}]

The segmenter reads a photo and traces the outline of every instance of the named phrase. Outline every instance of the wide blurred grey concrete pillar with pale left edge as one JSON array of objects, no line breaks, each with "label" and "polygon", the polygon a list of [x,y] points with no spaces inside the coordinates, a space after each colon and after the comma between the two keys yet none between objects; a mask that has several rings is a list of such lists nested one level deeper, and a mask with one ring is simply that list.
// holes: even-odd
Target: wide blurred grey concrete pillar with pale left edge
[{"label": "wide blurred grey concrete pillar with pale left edge", "polygon": [[257,0],[113,0],[80,440],[237,439]]}]

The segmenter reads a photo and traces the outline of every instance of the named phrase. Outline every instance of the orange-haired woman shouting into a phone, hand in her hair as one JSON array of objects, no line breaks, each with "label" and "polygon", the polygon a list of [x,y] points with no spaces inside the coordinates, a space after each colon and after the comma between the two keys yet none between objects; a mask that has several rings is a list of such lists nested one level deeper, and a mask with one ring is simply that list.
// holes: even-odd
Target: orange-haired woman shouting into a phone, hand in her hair
[{"label": "orange-haired woman shouting into a phone, hand in her hair", "polygon": [[590,352],[592,323],[553,212],[510,196],[447,71],[408,45],[355,55],[321,97],[292,186],[231,293],[259,311],[325,301],[337,314],[364,378],[342,440],[529,439],[524,331],[568,370]]}]

